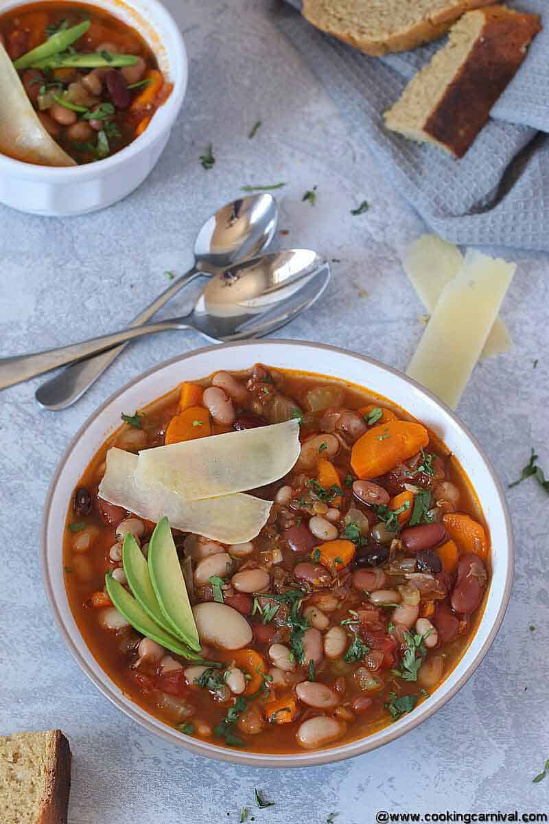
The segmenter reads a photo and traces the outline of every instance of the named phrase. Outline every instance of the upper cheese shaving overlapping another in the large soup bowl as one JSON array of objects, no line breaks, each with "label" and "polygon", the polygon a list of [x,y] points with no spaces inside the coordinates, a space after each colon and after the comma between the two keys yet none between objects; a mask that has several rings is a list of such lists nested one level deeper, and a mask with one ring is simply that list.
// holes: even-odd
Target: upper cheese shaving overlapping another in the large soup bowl
[{"label": "upper cheese shaving overlapping another in the large soup bowl", "polygon": [[201,500],[271,484],[299,455],[299,421],[286,420],[145,449],[136,476],[140,484],[161,484],[186,500]]}]

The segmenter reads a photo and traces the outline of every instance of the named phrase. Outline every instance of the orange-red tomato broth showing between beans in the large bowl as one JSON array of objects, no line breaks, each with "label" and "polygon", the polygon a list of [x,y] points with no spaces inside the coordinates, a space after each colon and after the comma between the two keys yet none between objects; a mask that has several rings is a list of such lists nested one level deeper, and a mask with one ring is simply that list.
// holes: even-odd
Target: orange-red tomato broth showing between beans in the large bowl
[{"label": "orange-red tomato broth showing between beans in the large bowl", "polygon": [[[332,379],[310,373],[289,370],[282,371],[271,368],[267,369],[273,376],[276,376],[273,378],[276,390],[278,391],[279,389],[283,389],[285,395],[290,396],[292,400],[295,400],[296,404],[299,404],[302,409],[306,409],[305,396],[307,392],[315,386],[344,386],[342,406],[349,410],[356,410],[365,405],[367,402],[374,402],[376,405],[393,410],[393,412],[395,412],[400,419],[411,421],[414,420],[405,410],[400,409],[391,401],[384,399],[382,396],[377,396],[370,391],[361,389],[361,387],[354,386],[349,383],[343,384],[342,382],[335,382]],[[249,372],[247,372],[246,375],[249,375]],[[235,373],[235,377],[242,379],[243,376],[242,374],[239,375],[238,373]],[[193,383],[198,383],[202,386],[209,386],[211,383],[211,377],[204,379],[203,381]],[[174,390],[166,396],[156,400],[153,404],[144,407],[143,410],[140,410],[140,414],[143,415],[141,419],[142,430],[134,431],[142,431],[143,434],[141,437],[143,441],[146,439],[147,447],[159,446],[163,443],[165,429],[170,423],[170,419],[178,413],[178,400],[179,390]],[[240,409],[238,405],[235,404],[235,406],[237,409]],[[133,410],[125,411],[130,412]],[[249,411],[249,409],[244,409],[244,413],[249,413]],[[258,412],[257,408],[254,408],[251,411],[254,414],[257,414]],[[322,418],[322,415],[323,413],[321,413],[318,417]],[[268,423],[271,422],[272,421],[268,420]],[[313,425],[318,425],[317,423],[314,423],[314,416]],[[223,428],[223,431],[226,431],[226,428]],[[306,438],[310,431],[311,428],[309,419],[306,417],[305,425],[302,427],[302,439],[304,437]],[[444,456],[445,480],[449,480],[458,487],[460,496],[458,511],[468,513],[477,522],[482,523],[482,526],[486,529],[486,522],[482,516],[482,508],[467,476],[463,472],[462,467],[459,465],[454,456],[449,455],[448,449],[444,446],[444,443],[436,437],[435,433],[429,431],[429,436],[430,442],[426,452],[433,450],[436,455]],[[91,461],[90,465],[87,467],[86,472],[82,475],[77,487],[82,485],[85,486],[94,501],[96,499],[100,476],[104,471],[102,469],[102,465],[105,461],[105,453],[109,447],[114,445],[124,448],[125,438],[128,437],[130,437],[130,440],[133,440],[133,432],[127,424],[124,424],[123,427],[119,428],[119,430],[109,437],[105,444],[100,448],[100,451],[97,453],[93,461]],[[130,448],[129,451],[137,452],[137,448]],[[345,479],[346,473],[349,471],[348,457],[346,460],[344,454],[338,454],[333,459],[333,463],[334,466],[336,466],[340,471],[342,479]],[[294,474],[295,471],[292,471],[289,477],[291,478]],[[315,476],[314,472],[309,472],[308,474],[312,477]],[[288,479],[286,478],[277,482],[277,485],[269,485],[269,488],[264,490],[265,493],[268,492],[268,494],[265,494],[264,497],[272,499],[276,493],[276,489],[280,489],[283,485],[285,485],[287,480]],[[344,496],[342,510],[345,511],[350,500],[353,506],[356,505],[356,499],[352,499],[350,490],[345,487],[343,487],[343,489]],[[254,494],[258,494],[258,492],[261,494],[262,491],[263,490],[255,490]],[[277,508],[277,504],[275,504],[275,508]],[[365,509],[365,507],[362,508]],[[280,510],[281,508],[278,507],[278,509]],[[280,517],[280,515],[278,517]],[[66,570],[65,583],[67,588],[67,596],[72,613],[88,648],[91,650],[91,653],[100,663],[100,666],[105,670],[105,672],[107,672],[109,677],[114,681],[114,683],[116,683],[123,690],[125,695],[127,695],[138,705],[142,706],[143,709],[146,709],[157,718],[163,720],[165,723],[168,723],[170,726],[174,727],[178,727],[180,723],[191,723],[193,725],[206,723],[210,726],[210,728],[214,728],[216,724],[220,723],[221,719],[226,716],[226,712],[231,705],[231,701],[216,703],[212,700],[207,690],[201,689],[194,685],[184,685],[184,682],[175,676],[174,683],[176,686],[165,687],[165,692],[170,696],[179,692],[179,695],[174,695],[174,700],[176,702],[180,701],[183,707],[190,705],[194,708],[193,714],[188,717],[186,714],[178,715],[177,710],[174,710],[174,705],[171,698],[166,700],[165,696],[163,697],[157,688],[159,684],[161,684],[161,681],[159,681],[159,673],[157,671],[149,671],[146,667],[135,668],[137,654],[134,650],[137,641],[141,638],[141,636],[131,627],[118,631],[105,630],[100,625],[100,610],[91,606],[86,606],[86,604],[89,603],[91,593],[103,591],[105,584],[105,572],[109,569],[114,569],[114,567],[118,564],[113,564],[109,561],[109,547],[113,545],[115,541],[114,527],[108,526],[103,522],[100,514],[97,512],[96,507],[94,507],[90,516],[82,519],[73,513],[71,506],[67,513],[67,524],[69,522],[79,522],[81,520],[85,520],[86,527],[88,525],[95,527],[98,534],[95,537],[91,550],[88,553],[77,554],[73,551],[72,545],[76,540],[78,533],[72,534],[67,530],[63,550],[63,563],[65,564]],[[147,531],[142,542],[146,541],[147,538],[150,537],[152,528],[152,524],[146,524]],[[254,551],[254,555],[251,557],[257,561],[259,565],[268,557],[268,546],[272,542],[272,528],[274,527],[270,527],[268,523],[267,526],[263,528],[260,536],[254,540],[256,550]],[[269,532],[270,529],[271,532]],[[314,541],[314,543],[317,544],[318,541]],[[178,545],[178,548],[180,548],[182,541],[178,539],[176,540],[176,544]],[[463,554],[464,553],[460,553],[460,555]],[[90,562],[90,578],[88,580],[81,580],[81,578],[78,577],[79,574],[81,574],[79,573],[79,567],[82,565],[86,567],[86,563],[79,560],[82,555],[86,555],[87,561]],[[287,547],[283,549],[283,555],[285,559],[284,563],[287,566],[300,563],[300,561],[309,562],[311,560],[309,554],[295,557],[295,555],[293,555],[291,550]],[[244,565],[248,560],[249,559],[246,558],[244,559]],[[241,565],[242,564],[240,564],[240,566]],[[67,571],[67,569],[70,571]],[[238,569],[240,569],[240,567],[233,569],[232,574],[234,574],[235,571],[238,571]],[[362,569],[371,568],[363,567]],[[327,571],[324,570],[324,572]],[[345,570],[342,572],[344,574]],[[339,574],[341,575],[342,572],[340,571]],[[490,574],[490,569],[488,569],[488,574]],[[391,584],[388,583],[388,587],[390,586]],[[204,592],[207,590],[207,588],[202,589]],[[329,592],[329,589],[329,587],[325,588],[322,592]],[[269,589],[269,592],[270,591],[271,589]],[[204,592],[202,592],[202,595]],[[462,634],[459,634],[456,639],[451,640],[449,643],[444,644],[442,649],[435,648],[434,650],[427,650],[426,661],[429,661],[430,657],[434,654],[440,655],[442,653],[442,656],[444,657],[444,672],[439,683],[448,677],[449,672],[457,666],[459,660],[467,651],[468,645],[470,644],[482,618],[484,604],[486,603],[486,592],[484,594],[482,604],[477,608],[477,611],[475,611],[472,616],[469,616],[466,620],[463,620],[463,618],[461,619],[460,630]],[[372,616],[370,617],[375,618],[374,623],[371,626],[368,626],[368,622],[366,620],[365,624],[361,625],[361,630],[364,630],[362,632],[362,638],[367,639],[367,646],[370,647],[372,653],[379,650],[379,655],[377,658],[383,657],[382,667],[384,668],[372,672],[372,674],[383,678],[384,687],[383,689],[375,692],[361,691],[356,687],[356,678],[352,676],[352,672],[354,672],[357,667],[362,666],[363,662],[359,661],[349,664],[347,662],[337,660],[336,662],[328,662],[328,665],[326,665],[327,659],[324,658],[323,665],[320,665],[318,672],[316,672],[316,677],[319,681],[322,681],[322,683],[331,687],[336,684],[337,679],[342,677],[346,679],[347,689],[345,694],[342,696],[341,701],[343,709],[348,710],[351,702],[361,696],[372,700],[371,706],[366,711],[361,711],[360,714],[357,712],[354,714],[354,718],[350,722],[347,722],[347,731],[345,734],[337,739],[337,741],[334,741],[333,744],[330,743],[328,746],[340,746],[342,743],[350,742],[358,738],[365,737],[371,733],[375,733],[379,729],[385,728],[388,724],[392,723],[393,719],[388,713],[388,710],[385,709],[384,704],[389,700],[389,694],[393,691],[396,692],[398,696],[407,694],[416,695],[417,704],[421,703],[423,700],[428,700],[419,693],[419,685],[417,682],[402,681],[402,679],[390,675],[390,667],[394,667],[395,664],[398,666],[398,662],[400,661],[398,643],[394,642],[390,635],[388,635],[387,631],[384,630],[384,625],[387,625],[388,616],[391,615],[392,610],[384,608],[376,609],[375,607],[372,607],[367,600],[361,601],[361,598],[358,599],[358,602],[353,602],[352,598],[355,597],[355,595],[356,593],[351,592],[349,596],[351,597],[351,605],[348,604],[349,597],[339,599],[340,604],[338,605],[337,610],[331,614],[328,614],[330,626],[340,625],[341,620],[349,618],[349,606],[355,611],[372,612]],[[212,600],[212,593],[206,592],[206,597],[201,597],[199,600]],[[423,602],[421,602],[421,604],[422,603]],[[444,599],[444,604],[447,603],[449,603],[449,597]],[[307,606],[307,602],[305,602],[304,606]],[[422,614],[423,613],[420,611],[420,616]],[[458,616],[458,618],[459,617],[460,616]],[[366,616],[366,619],[367,618],[368,616]],[[251,620],[254,624],[256,619],[254,617],[250,619],[249,617],[249,620]],[[250,646],[255,648],[258,653],[263,655],[263,658],[267,660],[269,667],[271,667],[272,664],[268,658],[268,649],[272,643],[273,636],[272,632],[269,633],[267,630],[272,630],[272,627],[272,622],[270,622],[266,627],[263,627],[263,624],[259,624],[258,636],[262,640],[253,641],[252,644],[250,644]],[[414,631],[413,628],[411,631]],[[276,640],[276,638],[277,636],[275,635],[274,639]],[[282,643],[286,642],[282,640]],[[397,653],[398,658],[395,657]],[[174,656],[174,658],[177,657]],[[230,658],[230,653],[221,650],[216,652],[215,650],[210,649],[207,658],[209,660],[215,659],[222,661],[226,664],[228,658]],[[184,667],[192,664],[192,662],[184,662],[184,660],[182,660],[182,663]],[[300,671],[299,665],[297,670],[298,672]],[[306,669],[304,669],[303,672],[305,672],[304,678],[307,680]],[[168,673],[165,674],[164,679],[166,677],[168,677],[168,681],[171,680]],[[162,680],[161,673],[160,679]],[[432,694],[432,690],[430,690],[430,694]],[[285,697],[288,697],[289,700],[295,700],[293,684],[288,684],[281,689],[275,688],[275,699],[277,700],[277,704],[283,703],[283,699]],[[265,705],[268,705],[268,703],[273,700],[272,693],[267,694],[266,698],[267,700],[263,701],[262,697],[258,697],[252,702],[253,707],[258,706],[261,714],[263,715],[265,712]],[[234,700],[234,696],[232,700]],[[297,701],[297,704],[299,705],[300,702]],[[362,704],[367,705],[367,701],[363,700]],[[281,718],[281,723],[268,723],[267,721],[264,721],[263,729],[258,734],[247,735],[238,727],[233,729],[233,733],[244,741],[245,749],[249,751],[279,754],[296,751],[303,752],[304,750],[295,742],[296,728],[299,727],[299,724],[304,719],[314,714],[319,714],[319,712],[306,706],[301,706],[298,719],[293,723],[282,723]],[[196,732],[194,734],[196,735]],[[224,739],[221,737],[216,737],[215,735],[202,735],[200,737],[202,737],[203,740],[216,744],[217,746],[226,746]]]}]

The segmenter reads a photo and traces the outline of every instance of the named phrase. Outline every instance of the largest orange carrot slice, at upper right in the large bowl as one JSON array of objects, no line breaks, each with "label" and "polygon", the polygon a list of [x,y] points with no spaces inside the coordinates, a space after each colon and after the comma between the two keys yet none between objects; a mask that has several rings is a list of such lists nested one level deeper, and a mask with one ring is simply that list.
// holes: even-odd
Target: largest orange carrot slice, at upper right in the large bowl
[{"label": "largest orange carrot slice, at upper right in the large bowl", "polygon": [[416,455],[429,443],[429,433],[421,424],[389,420],[368,429],[351,451],[351,466],[362,480],[379,478]]}]

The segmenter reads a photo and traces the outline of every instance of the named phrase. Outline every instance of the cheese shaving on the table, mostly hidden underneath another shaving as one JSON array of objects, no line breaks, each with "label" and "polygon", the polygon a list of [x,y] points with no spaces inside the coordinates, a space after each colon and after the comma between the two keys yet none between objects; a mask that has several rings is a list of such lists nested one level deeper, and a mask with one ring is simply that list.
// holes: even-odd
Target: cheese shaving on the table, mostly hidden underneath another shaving
[{"label": "cheese shaving on the table, mostly hidden underneath another shaving", "polygon": [[[407,247],[402,261],[404,271],[427,311],[432,312],[446,283],[453,280],[463,265],[457,246],[437,235],[422,235]],[[482,349],[481,360],[509,352],[513,339],[501,318],[496,318]]]}]

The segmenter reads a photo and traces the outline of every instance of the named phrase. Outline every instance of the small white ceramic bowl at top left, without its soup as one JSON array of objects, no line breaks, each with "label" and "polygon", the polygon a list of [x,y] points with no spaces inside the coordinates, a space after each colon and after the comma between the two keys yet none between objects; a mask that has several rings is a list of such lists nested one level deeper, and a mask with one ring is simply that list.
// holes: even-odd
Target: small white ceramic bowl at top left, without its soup
[{"label": "small white ceramic bowl at top left, without its soup", "polygon": [[[0,14],[34,0],[0,0]],[[54,168],[22,163],[0,154],[0,202],[21,212],[69,217],[95,212],[126,197],[151,172],[170,137],[187,88],[183,37],[158,0],[91,0],[133,26],[151,46],[159,67],[174,84],[170,97],[133,143],[105,160]]]}]

